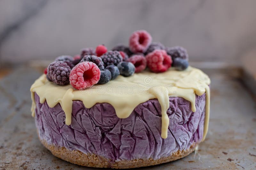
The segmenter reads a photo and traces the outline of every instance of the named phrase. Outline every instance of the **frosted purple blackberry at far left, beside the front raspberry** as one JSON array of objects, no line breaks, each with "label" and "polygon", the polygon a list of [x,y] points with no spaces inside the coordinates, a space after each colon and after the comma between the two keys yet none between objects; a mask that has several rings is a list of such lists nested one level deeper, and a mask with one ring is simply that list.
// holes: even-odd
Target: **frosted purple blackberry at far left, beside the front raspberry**
[{"label": "frosted purple blackberry at far left, beside the front raspberry", "polygon": [[70,71],[70,67],[64,61],[54,61],[48,66],[46,76],[58,85],[67,85]]}]

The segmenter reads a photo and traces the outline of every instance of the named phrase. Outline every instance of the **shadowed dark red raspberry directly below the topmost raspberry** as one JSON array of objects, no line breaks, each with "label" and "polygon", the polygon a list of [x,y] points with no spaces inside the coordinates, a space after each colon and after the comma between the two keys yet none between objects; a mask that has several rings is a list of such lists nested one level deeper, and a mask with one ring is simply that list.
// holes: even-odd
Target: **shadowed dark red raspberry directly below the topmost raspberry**
[{"label": "shadowed dark red raspberry directly below the topmost raspberry", "polygon": [[133,55],[127,61],[135,66],[135,73],[145,70],[147,66],[146,58],[143,55]]}]

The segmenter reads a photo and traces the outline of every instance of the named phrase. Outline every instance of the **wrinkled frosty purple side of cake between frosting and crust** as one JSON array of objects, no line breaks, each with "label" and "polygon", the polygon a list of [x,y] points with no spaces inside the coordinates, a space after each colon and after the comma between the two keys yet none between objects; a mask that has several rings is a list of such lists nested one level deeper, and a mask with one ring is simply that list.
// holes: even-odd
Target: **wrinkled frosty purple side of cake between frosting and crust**
[{"label": "wrinkled frosty purple side of cake between frosting and crust", "polygon": [[161,138],[161,106],[157,99],[139,104],[125,119],[108,103],[85,108],[73,101],[72,123],[65,124],[60,104],[50,108],[35,93],[39,138],[70,150],[115,160],[159,159],[200,142],[204,132],[205,94],[196,96],[196,112],[181,97],[170,97],[168,137]]}]

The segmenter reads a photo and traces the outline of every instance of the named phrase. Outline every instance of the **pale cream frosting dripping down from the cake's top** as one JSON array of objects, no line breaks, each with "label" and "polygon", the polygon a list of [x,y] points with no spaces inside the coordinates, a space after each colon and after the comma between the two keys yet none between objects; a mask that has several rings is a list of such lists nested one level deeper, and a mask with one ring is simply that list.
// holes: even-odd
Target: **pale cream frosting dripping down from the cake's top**
[{"label": "pale cream frosting dripping down from the cake's top", "polygon": [[162,138],[167,138],[169,118],[166,111],[169,108],[169,97],[182,97],[191,103],[191,110],[196,111],[196,95],[206,93],[205,121],[203,140],[208,131],[210,114],[210,79],[201,70],[188,67],[184,71],[170,68],[164,73],[143,71],[130,77],[118,76],[104,85],[94,85],[84,90],[74,89],[71,85],[59,86],[40,76],[31,86],[32,116],[35,116],[34,92],[40,97],[40,103],[45,100],[49,107],[60,103],[65,112],[67,125],[71,124],[73,100],[80,100],[86,108],[96,103],[111,104],[119,118],[130,116],[134,108],[150,99],[158,99],[162,113]]}]

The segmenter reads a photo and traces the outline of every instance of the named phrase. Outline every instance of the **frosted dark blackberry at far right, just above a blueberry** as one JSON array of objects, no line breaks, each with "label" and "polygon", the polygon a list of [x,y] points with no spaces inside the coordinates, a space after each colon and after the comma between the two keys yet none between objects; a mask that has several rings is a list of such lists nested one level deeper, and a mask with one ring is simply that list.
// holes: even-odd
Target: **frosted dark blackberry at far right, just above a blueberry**
[{"label": "frosted dark blackberry at far right, just above a blueberry", "polygon": [[175,58],[188,60],[188,52],[182,46],[166,47],[165,50],[168,55],[172,56],[172,60]]}]

